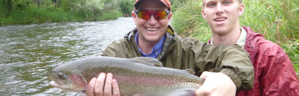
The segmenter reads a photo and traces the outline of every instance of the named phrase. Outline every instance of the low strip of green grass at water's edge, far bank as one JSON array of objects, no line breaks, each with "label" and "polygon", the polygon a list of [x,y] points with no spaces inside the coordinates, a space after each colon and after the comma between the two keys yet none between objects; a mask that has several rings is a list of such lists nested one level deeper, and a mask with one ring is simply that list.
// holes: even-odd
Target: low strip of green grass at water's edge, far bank
[{"label": "low strip of green grass at water's edge, far bank", "polygon": [[71,10],[55,8],[55,6],[45,6],[38,8],[30,6],[24,10],[13,9],[9,16],[0,15],[0,25],[32,24],[46,22],[69,22],[69,21],[99,21],[113,20],[122,17],[122,13],[117,10],[109,10],[101,13],[100,16],[86,16]]}]

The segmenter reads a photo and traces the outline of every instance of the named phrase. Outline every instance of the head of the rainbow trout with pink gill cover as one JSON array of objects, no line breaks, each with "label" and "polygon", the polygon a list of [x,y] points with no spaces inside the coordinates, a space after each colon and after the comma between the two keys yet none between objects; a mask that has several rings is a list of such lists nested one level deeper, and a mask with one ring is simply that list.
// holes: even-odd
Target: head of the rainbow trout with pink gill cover
[{"label": "head of the rainbow trout with pink gill cover", "polygon": [[87,82],[82,75],[72,71],[54,68],[47,73],[47,77],[53,80],[50,82],[51,86],[62,90],[80,92],[87,87]]}]

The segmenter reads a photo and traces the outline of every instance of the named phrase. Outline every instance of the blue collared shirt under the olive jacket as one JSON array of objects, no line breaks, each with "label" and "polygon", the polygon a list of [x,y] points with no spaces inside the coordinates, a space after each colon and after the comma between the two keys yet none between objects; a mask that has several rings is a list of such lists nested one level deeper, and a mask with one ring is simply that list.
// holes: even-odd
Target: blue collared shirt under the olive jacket
[{"label": "blue collared shirt under the olive jacket", "polygon": [[[138,38],[139,38],[139,35],[138,35],[138,32],[136,33],[136,36],[135,36],[135,41],[136,41],[136,44],[138,45]],[[153,47],[152,49],[152,52],[150,52],[149,54],[144,54],[138,47],[138,50],[141,54],[142,57],[151,57],[151,58],[158,58],[158,55],[159,53],[162,51],[162,48],[163,48],[163,43],[165,41],[165,35],[162,37],[162,39]]]}]

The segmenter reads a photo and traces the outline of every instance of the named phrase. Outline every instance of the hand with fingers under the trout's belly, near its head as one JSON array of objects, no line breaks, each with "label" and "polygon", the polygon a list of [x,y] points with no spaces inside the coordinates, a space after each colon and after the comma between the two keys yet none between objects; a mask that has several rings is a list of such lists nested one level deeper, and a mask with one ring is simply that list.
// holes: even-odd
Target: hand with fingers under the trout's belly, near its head
[{"label": "hand with fingers under the trout's belly, near its head", "polygon": [[100,73],[98,79],[93,78],[89,82],[84,93],[88,96],[121,96],[118,84],[115,79],[112,79],[112,77],[113,76],[111,73],[108,73],[107,76],[105,75],[105,73]]}]

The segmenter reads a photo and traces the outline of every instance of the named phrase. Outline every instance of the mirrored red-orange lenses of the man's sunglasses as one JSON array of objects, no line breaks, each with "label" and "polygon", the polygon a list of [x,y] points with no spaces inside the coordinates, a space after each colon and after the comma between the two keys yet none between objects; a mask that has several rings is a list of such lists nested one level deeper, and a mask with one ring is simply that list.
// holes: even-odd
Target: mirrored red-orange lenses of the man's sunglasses
[{"label": "mirrored red-orange lenses of the man's sunglasses", "polygon": [[147,20],[152,14],[157,20],[165,19],[167,17],[166,11],[163,10],[159,10],[159,11],[138,10],[137,16],[139,18]]}]

